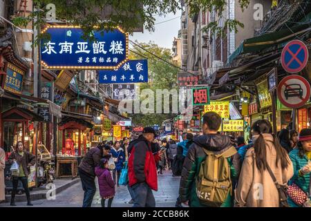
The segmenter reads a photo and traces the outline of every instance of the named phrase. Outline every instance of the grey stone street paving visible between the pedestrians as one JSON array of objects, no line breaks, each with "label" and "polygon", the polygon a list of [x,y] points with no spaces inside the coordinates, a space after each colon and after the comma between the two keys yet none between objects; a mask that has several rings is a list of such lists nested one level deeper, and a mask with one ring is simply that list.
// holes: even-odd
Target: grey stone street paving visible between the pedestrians
[{"label": "grey stone street paving visible between the pedestrians", "polygon": [[[175,206],[178,196],[180,177],[172,177],[171,171],[164,171],[163,175],[158,175],[158,191],[154,192],[157,207]],[[97,181],[96,181],[97,182]],[[113,207],[131,207],[128,204],[131,197],[126,186],[120,186],[116,189],[116,195],[113,200]],[[70,186],[68,189],[58,193],[56,200],[36,200],[32,203],[37,207],[79,207],[82,206],[83,191],[81,182]],[[100,207],[100,193],[95,194],[93,200],[94,207]],[[10,206],[9,203],[0,204],[0,207]],[[26,206],[26,202],[17,202],[17,206]]]}]

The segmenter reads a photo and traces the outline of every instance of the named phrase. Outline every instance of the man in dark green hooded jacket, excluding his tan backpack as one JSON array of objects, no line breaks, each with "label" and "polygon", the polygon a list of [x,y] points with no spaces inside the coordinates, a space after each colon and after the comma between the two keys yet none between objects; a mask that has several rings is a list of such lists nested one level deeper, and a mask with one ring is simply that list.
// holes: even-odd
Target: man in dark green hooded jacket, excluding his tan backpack
[{"label": "man in dark green hooded jacket, excluding his tan backpack", "polygon": [[[196,179],[200,171],[200,164],[206,159],[206,153],[203,151],[212,151],[214,154],[221,154],[232,148],[230,138],[225,135],[217,134],[221,124],[221,118],[217,113],[208,112],[203,115],[202,132],[203,135],[194,139],[194,144],[189,147],[185,163],[182,169],[180,180],[180,202],[189,204],[189,206],[202,206],[196,194]],[[236,153],[228,159],[231,175],[238,177],[241,162]],[[222,206],[232,206],[232,195],[227,195],[227,200]]]}]

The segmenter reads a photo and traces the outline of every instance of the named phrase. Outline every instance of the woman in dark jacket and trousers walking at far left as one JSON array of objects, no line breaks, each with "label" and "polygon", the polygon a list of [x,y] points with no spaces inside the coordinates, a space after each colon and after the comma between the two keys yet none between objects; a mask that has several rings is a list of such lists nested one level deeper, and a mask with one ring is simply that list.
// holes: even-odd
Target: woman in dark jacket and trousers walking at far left
[{"label": "woman in dark jacket and trousers walking at far left", "polygon": [[12,172],[12,194],[11,194],[11,206],[16,206],[15,204],[15,195],[17,192],[17,186],[19,180],[23,184],[23,189],[25,190],[27,197],[27,206],[33,206],[30,200],[30,191],[28,188],[28,175],[30,173],[30,166],[35,165],[36,157],[32,153],[29,153],[24,149],[22,142],[17,142],[17,149],[8,157],[8,162],[13,164],[17,162],[19,165],[19,171],[17,173]]}]

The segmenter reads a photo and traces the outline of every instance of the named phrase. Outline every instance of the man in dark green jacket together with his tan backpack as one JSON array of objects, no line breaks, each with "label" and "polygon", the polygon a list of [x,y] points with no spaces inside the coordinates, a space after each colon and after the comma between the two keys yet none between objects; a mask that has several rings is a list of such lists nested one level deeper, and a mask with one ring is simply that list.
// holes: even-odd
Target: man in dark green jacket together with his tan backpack
[{"label": "man in dark green jacket together with his tan backpack", "polygon": [[230,138],[217,133],[221,117],[214,112],[202,116],[203,135],[194,139],[185,158],[180,180],[180,202],[191,207],[233,206],[232,180],[241,161]]}]

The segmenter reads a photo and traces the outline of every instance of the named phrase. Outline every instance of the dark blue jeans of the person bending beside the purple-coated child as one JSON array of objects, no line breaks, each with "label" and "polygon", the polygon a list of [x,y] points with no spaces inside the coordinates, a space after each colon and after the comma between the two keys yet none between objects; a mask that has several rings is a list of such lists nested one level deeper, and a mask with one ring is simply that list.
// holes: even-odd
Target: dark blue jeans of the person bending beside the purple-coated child
[{"label": "dark blue jeans of the person bending beside the purple-coated child", "polygon": [[95,177],[88,175],[79,169],[79,176],[84,191],[82,207],[91,207],[94,195],[96,193]]}]

